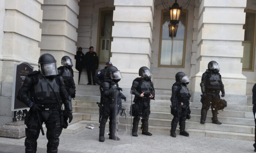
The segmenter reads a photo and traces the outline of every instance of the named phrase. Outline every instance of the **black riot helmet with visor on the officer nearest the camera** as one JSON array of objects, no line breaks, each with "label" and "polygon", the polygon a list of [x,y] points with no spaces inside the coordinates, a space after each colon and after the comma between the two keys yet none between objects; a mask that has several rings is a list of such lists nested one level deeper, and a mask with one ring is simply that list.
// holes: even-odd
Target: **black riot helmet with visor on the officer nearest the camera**
[{"label": "black riot helmet with visor on the officer nearest the camera", "polygon": [[49,78],[54,78],[58,74],[56,59],[51,54],[41,55],[38,59],[38,67],[41,74]]}]

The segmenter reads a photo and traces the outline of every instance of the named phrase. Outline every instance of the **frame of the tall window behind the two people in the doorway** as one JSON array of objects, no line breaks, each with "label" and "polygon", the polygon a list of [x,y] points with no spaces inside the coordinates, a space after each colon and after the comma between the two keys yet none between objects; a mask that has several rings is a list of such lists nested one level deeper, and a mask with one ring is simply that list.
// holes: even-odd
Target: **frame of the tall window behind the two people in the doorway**
[{"label": "frame of the tall window behind the two people in the doorway", "polygon": [[[104,8],[99,8],[99,14],[98,14],[98,32],[97,32],[97,50],[96,53],[98,54],[98,56],[100,56],[100,52],[99,52],[99,37],[101,35],[101,12],[102,11],[114,11],[115,8],[114,7],[104,7]],[[112,17],[113,17],[113,13],[112,13]],[[113,21],[113,18],[112,18]],[[111,30],[111,37],[112,37],[112,30]],[[111,54],[111,42],[110,42],[110,46],[109,46],[109,53]],[[109,56],[109,61],[110,61],[110,56]],[[106,64],[106,62],[99,62],[99,64]]]}]

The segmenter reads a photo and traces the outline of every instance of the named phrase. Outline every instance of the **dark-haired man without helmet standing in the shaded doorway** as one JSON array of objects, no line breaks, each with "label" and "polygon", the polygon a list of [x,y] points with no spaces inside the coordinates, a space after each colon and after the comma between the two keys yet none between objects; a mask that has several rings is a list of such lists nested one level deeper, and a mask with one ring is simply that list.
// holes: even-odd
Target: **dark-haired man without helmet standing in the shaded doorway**
[{"label": "dark-haired man without helmet standing in the shaded doorway", "polygon": [[99,58],[96,52],[93,51],[94,48],[91,46],[89,48],[89,52],[84,55],[84,65],[87,71],[88,83],[87,85],[91,85],[91,73],[93,75],[93,85],[96,85],[94,80],[95,70],[98,69],[99,66]]}]

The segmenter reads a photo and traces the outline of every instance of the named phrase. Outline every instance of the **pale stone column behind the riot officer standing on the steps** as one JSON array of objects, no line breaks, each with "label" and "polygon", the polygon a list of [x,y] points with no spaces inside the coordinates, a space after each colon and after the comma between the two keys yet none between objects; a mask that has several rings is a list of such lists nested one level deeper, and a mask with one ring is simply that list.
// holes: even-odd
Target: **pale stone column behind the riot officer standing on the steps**
[{"label": "pale stone column behind the riot officer standing on the steps", "polygon": [[241,63],[246,0],[199,1],[197,62],[191,81],[193,101],[200,101],[202,74],[208,62],[215,60],[221,68],[226,93],[224,99],[229,105],[246,105],[246,77],[242,75]]}]

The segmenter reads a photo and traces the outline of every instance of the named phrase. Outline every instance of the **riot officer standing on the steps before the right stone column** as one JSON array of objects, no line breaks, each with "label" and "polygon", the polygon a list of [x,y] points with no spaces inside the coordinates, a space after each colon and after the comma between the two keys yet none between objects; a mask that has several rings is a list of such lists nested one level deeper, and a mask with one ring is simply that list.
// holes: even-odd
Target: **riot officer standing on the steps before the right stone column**
[{"label": "riot officer standing on the steps before the right stone column", "polygon": [[218,102],[220,100],[219,93],[221,91],[221,97],[225,96],[224,85],[221,81],[221,75],[219,74],[219,66],[215,61],[208,63],[208,69],[203,73],[202,82],[200,83],[202,90],[202,110],[201,110],[201,124],[206,121],[207,111],[211,106],[212,111],[212,123],[221,124],[218,121]]}]

